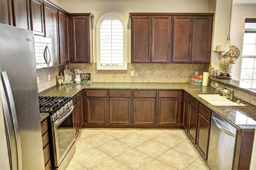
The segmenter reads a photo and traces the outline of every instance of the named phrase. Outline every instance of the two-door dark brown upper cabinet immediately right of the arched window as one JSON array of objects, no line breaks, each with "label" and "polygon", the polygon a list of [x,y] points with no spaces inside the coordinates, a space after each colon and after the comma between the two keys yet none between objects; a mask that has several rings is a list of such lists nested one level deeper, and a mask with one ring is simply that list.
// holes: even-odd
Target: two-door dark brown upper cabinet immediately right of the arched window
[{"label": "two-door dark brown upper cabinet immediately right of the arched window", "polygon": [[171,23],[169,16],[136,16],[132,18],[132,63],[169,63]]}]

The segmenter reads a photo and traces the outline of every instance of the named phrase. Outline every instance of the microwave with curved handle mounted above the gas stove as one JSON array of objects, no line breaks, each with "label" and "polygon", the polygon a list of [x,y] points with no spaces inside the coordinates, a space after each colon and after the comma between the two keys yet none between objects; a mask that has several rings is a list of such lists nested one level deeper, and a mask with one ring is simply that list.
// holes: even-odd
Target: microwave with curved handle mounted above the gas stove
[{"label": "microwave with curved handle mounted above the gas stove", "polygon": [[52,38],[34,36],[36,69],[52,66]]}]

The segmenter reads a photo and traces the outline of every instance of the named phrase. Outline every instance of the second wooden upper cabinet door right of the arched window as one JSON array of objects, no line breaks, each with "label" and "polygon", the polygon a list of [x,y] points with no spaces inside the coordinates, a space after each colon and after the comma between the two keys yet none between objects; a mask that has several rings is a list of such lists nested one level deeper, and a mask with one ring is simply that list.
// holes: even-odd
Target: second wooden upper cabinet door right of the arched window
[{"label": "second wooden upper cabinet door right of the arched window", "polygon": [[[152,17],[151,62],[170,63],[172,17]],[[144,30],[141,30],[143,32]]]}]

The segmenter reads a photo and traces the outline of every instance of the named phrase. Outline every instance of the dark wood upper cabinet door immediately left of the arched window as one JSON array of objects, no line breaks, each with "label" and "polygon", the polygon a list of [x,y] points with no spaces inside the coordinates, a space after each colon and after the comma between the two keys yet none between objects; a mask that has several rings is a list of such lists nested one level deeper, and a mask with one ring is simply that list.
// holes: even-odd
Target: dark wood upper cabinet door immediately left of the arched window
[{"label": "dark wood upper cabinet door immediately left of the arched window", "polygon": [[73,62],[92,63],[90,57],[90,20],[88,16],[73,16]]}]

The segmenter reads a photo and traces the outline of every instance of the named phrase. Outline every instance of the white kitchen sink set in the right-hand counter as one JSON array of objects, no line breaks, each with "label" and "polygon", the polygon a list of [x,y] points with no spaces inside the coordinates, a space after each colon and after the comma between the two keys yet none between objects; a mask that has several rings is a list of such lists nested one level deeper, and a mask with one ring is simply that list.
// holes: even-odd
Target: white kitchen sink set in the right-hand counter
[{"label": "white kitchen sink set in the right-hand counter", "polygon": [[204,100],[208,101],[209,103],[215,106],[245,106],[242,103],[238,105],[235,101],[230,101],[227,98],[220,96],[219,94],[218,95],[201,94],[198,96],[202,97]]}]

